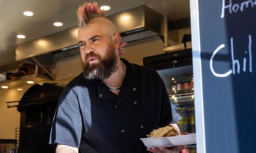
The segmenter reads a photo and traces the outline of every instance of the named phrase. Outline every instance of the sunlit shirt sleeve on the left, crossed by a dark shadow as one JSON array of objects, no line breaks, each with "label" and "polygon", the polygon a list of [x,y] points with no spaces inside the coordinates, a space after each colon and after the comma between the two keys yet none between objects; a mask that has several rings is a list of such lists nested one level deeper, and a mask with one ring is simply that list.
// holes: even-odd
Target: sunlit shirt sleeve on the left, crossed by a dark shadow
[{"label": "sunlit shirt sleeve on the left, crossed by a dark shadow", "polygon": [[49,144],[64,144],[79,148],[82,134],[82,116],[78,97],[65,87],[59,98],[52,122]]}]

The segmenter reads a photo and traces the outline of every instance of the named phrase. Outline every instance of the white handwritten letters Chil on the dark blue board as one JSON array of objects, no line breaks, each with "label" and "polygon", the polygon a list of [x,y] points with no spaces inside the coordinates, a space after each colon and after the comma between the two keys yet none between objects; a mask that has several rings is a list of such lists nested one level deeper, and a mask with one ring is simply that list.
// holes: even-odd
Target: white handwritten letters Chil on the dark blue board
[{"label": "white handwritten letters Chil on the dark blue board", "polygon": [[[252,73],[252,36],[249,35],[249,43],[248,43],[248,49],[249,49],[249,72]],[[216,77],[220,77],[220,78],[224,78],[227,77],[231,74],[236,75],[240,74],[240,62],[238,59],[235,59],[235,55],[234,55],[234,38],[231,37],[230,38],[230,52],[231,52],[231,63],[232,63],[232,69],[229,69],[228,71],[226,71],[226,73],[217,73],[213,67],[213,62],[214,62],[214,57],[217,55],[217,53],[221,50],[225,48],[224,44],[221,44],[219,47],[217,47],[217,49],[215,49],[215,51],[213,51],[213,54],[211,55],[210,58],[210,69],[211,69],[211,73],[216,76]],[[247,70],[247,51],[244,52],[245,53],[245,57],[243,57],[243,72],[246,72]]]}]

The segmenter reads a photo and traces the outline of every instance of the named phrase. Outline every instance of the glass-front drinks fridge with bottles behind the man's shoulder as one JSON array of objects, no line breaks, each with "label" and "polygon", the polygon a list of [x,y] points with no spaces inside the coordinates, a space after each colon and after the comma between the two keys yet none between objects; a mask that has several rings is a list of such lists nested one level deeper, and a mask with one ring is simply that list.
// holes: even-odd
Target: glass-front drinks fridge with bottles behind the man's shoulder
[{"label": "glass-front drinks fridge with bottles behind the man's shoulder", "polygon": [[[184,49],[143,58],[143,65],[155,69],[163,79],[170,102],[181,116],[181,133],[195,133],[194,80],[192,50]],[[195,153],[196,145],[187,145]]]}]

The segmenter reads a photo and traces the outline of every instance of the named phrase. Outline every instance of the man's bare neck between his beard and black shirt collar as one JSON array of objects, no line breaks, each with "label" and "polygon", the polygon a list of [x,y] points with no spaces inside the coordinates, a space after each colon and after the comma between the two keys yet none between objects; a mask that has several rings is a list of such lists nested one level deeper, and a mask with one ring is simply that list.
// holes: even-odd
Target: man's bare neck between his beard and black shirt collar
[{"label": "man's bare neck between his beard and black shirt collar", "polygon": [[124,80],[124,66],[121,60],[117,62],[117,70],[111,74],[111,76],[107,79],[104,79],[103,82],[111,87],[119,87],[121,86]]}]

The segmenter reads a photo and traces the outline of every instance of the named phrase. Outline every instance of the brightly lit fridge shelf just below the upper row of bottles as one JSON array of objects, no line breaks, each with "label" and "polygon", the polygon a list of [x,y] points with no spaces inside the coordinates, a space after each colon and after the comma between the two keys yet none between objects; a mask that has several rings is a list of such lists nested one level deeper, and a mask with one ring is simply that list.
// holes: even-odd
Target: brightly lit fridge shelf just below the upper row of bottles
[{"label": "brightly lit fridge shelf just below the upper row of bottles", "polygon": [[194,93],[182,93],[182,94],[174,94],[169,95],[169,98],[172,102],[175,103],[193,103],[194,102]]}]

